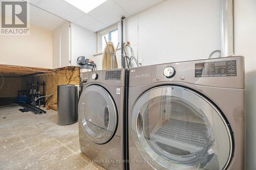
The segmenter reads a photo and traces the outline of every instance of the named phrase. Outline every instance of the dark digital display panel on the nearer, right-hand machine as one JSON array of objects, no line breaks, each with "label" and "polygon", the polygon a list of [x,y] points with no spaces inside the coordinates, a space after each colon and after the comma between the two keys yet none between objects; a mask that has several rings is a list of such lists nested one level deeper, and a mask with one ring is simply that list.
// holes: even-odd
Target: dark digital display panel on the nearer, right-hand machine
[{"label": "dark digital display panel on the nearer, right-hand machine", "polygon": [[195,77],[237,76],[237,60],[212,61],[195,64]]}]

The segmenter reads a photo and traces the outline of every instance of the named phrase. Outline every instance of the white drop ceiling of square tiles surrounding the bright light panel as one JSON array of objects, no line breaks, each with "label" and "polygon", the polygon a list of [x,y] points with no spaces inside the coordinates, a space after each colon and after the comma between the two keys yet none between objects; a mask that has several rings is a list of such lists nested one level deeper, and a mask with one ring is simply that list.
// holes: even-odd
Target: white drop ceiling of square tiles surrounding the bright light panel
[{"label": "white drop ceiling of square tiles surrounding the bright light panel", "polygon": [[64,0],[30,0],[30,4],[96,32],[118,22],[122,16],[135,15],[164,1],[107,0],[89,13],[84,13]]}]

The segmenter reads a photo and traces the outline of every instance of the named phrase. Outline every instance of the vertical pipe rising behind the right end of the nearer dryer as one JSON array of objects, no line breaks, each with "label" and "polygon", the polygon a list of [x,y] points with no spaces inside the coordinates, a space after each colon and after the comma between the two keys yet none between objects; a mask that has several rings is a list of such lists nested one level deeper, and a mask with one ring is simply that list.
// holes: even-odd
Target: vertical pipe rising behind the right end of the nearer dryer
[{"label": "vertical pipe rising behind the right end of the nearer dryer", "polygon": [[234,55],[234,2],[221,2],[221,57]]}]

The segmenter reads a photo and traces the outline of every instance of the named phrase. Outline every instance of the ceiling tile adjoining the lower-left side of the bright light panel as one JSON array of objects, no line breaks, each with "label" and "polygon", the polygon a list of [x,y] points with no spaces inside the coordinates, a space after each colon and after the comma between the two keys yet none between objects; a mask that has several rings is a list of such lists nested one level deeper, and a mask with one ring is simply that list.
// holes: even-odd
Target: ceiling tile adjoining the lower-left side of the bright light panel
[{"label": "ceiling tile adjoining the lower-left side of the bright light panel", "polygon": [[41,0],[38,6],[71,22],[77,21],[85,14],[63,0]]}]

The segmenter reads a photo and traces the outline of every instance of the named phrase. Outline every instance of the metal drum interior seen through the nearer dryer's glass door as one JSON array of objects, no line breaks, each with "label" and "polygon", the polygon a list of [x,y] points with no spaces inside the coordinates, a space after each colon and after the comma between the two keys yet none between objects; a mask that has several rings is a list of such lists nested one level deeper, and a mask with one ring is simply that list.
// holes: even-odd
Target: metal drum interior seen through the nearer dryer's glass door
[{"label": "metal drum interior seen through the nearer dryer's glass door", "polygon": [[[196,110],[190,103],[175,96],[158,96],[152,105],[161,101],[164,101],[162,112],[171,116],[167,119],[161,118],[161,122],[158,122],[152,131],[154,133],[152,140],[147,140],[148,144],[164,157],[185,164],[200,158],[202,153],[203,155],[207,153],[214,145],[215,137],[206,116],[200,115],[200,110]],[[172,113],[166,111],[171,107]],[[148,113],[148,107],[142,108]],[[145,114],[144,118],[148,119],[148,116],[150,115]],[[144,132],[148,134],[148,130],[145,129]]]}]

